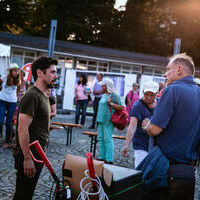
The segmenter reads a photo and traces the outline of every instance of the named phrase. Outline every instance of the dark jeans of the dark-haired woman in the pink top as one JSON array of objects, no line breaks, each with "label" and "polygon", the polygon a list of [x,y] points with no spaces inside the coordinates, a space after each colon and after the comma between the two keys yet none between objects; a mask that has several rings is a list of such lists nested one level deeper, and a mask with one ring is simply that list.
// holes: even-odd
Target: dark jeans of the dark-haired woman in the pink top
[{"label": "dark jeans of the dark-haired woman in the pink top", "polygon": [[84,125],[85,123],[85,117],[86,117],[86,110],[88,106],[88,100],[78,100],[76,104],[76,116],[75,116],[75,123],[79,124],[79,118],[82,110],[82,116],[81,116],[81,124]]}]

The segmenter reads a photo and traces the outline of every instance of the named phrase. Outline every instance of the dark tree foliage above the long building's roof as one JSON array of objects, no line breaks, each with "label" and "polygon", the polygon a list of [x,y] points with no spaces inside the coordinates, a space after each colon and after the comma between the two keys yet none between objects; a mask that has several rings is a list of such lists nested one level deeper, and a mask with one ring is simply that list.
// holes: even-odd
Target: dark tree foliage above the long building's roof
[{"label": "dark tree foliage above the long building's roof", "polygon": [[169,56],[175,38],[199,60],[199,0],[0,0],[0,31],[48,37],[57,19],[59,40]]}]

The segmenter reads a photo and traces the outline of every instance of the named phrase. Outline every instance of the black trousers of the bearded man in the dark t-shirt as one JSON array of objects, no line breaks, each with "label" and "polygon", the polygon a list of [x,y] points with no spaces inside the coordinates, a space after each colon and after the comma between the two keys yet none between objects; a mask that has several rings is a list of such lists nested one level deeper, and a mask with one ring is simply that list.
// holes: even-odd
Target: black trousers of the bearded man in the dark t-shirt
[{"label": "black trousers of the bearded man in the dark t-shirt", "polygon": [[38,182],[43,164],[35,163],[36,174],[34,178],[27,178],[24,175],[23,156],[16,156],[15,169],[17,170],[16,189],[13,200],[32,200],[35,186]]}]

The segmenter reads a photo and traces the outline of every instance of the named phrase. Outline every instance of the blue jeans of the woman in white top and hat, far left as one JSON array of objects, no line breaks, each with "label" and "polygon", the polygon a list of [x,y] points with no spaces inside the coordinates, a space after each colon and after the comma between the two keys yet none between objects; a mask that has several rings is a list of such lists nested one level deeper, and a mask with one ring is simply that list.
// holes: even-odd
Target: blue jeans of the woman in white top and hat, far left
[{"label": "blue jeans of the woman in white top and hat, far left", "polygon": [[11,142],[11,129],[12,129],[11,123],[12,123],[12,118],[15,113],[16,107],[17,107],[17,103],[0,100],[0,135],[2,133],[5,114],[7,111],[7,114],[6,114],[6,139],[5,139],[6,143]]}]

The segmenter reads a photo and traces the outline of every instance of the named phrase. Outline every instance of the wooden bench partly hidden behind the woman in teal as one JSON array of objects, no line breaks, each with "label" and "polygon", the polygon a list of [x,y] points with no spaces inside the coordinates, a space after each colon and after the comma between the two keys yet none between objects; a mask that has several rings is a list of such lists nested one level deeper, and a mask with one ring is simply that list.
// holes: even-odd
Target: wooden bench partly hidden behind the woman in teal
[{"label": "wooden bench partly hidden behind the woman in teal", "polygon": [[[93,153],[93,157],[95,157],[96,154],[96,145],[97,145],[97,132],[90,132],[90,131],[84,131],[82,132],[83,135],[88,135],[91,138],[90,142],[90,152]],[[126,140],[126,136],[121,135],[113,135],[114,139],[120,139],[120,140]]]}]

